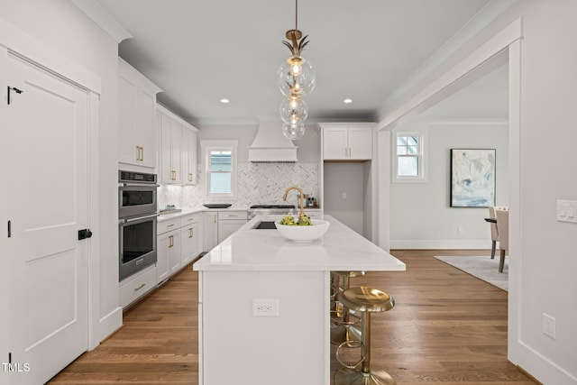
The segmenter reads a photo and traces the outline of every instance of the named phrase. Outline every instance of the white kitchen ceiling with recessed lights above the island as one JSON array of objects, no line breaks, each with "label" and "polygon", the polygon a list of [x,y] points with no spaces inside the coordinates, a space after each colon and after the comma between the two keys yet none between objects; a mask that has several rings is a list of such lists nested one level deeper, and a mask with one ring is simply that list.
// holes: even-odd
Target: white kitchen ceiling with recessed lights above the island
[{"label": "white kitchen ceiling with recessed lights above the island", "polygon": [[[120,56],[163,89],[162,105],[191,124],[279,118],[275,76],[289,57],[281,41],[295,27],[293,0],[91,1],[133,36],[120,43]],[[317,72],[307,122],[377,120],[393,91],[489,4],[301,0],[298,29],[310,40],[303,56]],[[224,97],[229,104],[219,102]],[[343,104],[347,97],[353,103]]]}]

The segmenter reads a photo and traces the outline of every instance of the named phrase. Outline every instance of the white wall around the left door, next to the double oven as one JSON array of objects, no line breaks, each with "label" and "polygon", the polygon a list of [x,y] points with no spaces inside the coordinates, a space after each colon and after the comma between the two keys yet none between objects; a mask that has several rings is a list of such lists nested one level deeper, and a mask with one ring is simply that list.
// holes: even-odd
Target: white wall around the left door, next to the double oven
[{"label": "white wall around the left door, next to the double oven", "polygon": [[[117,104],[118,46],[68,0],[0,0],[0,17],[27,37],[53,50],[101,78],[102,95],[99,103],[99,129],[95,148],[99,175],[92,176],[100,202],[97,215],[90,225],[97,228],[91,242],[96,242],[98,254],[92,254],[92,287],[97,292],[90,298],[91,345],[97,344],[122,323],[118,307],[118,225],[117,225]],[[0,43],[3,42],[0,36]],[[24,52],[32,55],[33,50]],[[97,216],[95,219],[94,216]],[[97,222],[97,224],[96,224]]]}]

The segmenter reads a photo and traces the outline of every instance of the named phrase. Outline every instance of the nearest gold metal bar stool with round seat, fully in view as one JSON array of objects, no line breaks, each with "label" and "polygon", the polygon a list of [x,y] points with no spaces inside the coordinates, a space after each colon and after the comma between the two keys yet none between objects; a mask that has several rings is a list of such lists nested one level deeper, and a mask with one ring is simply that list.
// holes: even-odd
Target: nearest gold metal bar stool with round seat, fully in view
[{"label": "nearest gold metal bar stool with round seat, fully in view", "polygon": [[[359,287],[344,290],[339,296],[344,307],[361,313],[361,341],[345,341],[336,349],[336,359],[343,368],[334,373],[334,385],[384,385],[397,382],[386,371],[371,371],[371,313],[388,311],[395,300],[379,289]],[[340,350],[352,343],[361,345],[361,360],[354,364],[343,362]],[[361,366],[359,370],[358,367]]]}]

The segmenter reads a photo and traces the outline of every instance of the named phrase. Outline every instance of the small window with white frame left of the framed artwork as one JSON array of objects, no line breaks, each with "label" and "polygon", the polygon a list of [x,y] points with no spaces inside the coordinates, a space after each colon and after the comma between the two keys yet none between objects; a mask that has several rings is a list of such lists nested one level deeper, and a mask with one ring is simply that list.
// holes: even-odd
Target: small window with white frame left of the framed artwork
[{"label": "small window with white frame left of the framed artwork", "polygon": [[426,132],[399,132],[393,136],[393,182],[426,182]]}]

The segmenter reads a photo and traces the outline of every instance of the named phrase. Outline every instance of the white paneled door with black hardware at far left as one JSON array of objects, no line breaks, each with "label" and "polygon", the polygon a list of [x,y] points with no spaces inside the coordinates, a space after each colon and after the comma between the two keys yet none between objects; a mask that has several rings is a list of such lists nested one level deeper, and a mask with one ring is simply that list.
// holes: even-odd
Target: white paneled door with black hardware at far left
[{"label": "white paneled door with black hardware at far left", "polygon": [[87,92],[7,63],[9,383],[39,384],[87,350]]}]

